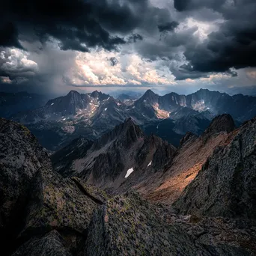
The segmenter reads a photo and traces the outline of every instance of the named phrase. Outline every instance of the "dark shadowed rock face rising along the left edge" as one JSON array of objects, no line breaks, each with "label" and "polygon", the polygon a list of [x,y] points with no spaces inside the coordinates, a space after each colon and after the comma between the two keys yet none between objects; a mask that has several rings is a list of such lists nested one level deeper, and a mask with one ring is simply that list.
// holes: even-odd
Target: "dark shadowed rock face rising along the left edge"
[{"label": "dark shadowed rock face rising along the left edge", "polygon": [[19,232],[34,176],[51,163],[46,150],[22,125],[1,118],[0,141],[0,235],[4,241]]}]

